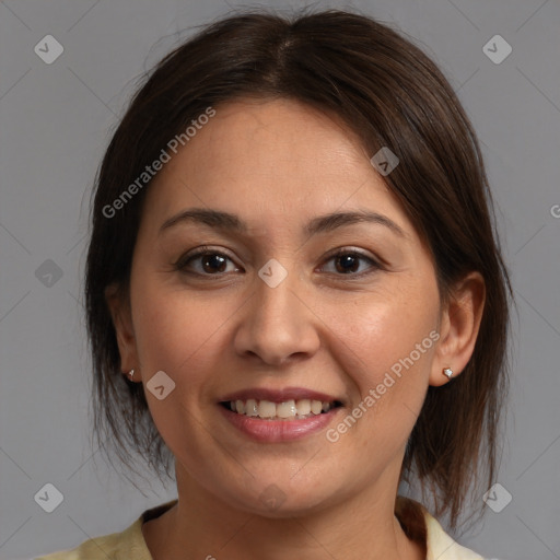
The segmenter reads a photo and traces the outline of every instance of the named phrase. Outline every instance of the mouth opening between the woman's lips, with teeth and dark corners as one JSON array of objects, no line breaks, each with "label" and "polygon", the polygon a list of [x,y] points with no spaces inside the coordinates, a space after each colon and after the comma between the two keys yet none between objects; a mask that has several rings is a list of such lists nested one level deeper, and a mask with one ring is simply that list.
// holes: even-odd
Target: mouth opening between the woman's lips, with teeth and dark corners
[{"label": "mouth opening between the woman's lips, with teeth and dark corners", "polygon": [[340,400],[310,398],[287,399],[275,402],[273,400],[248,398],[246,400],[223,400],[220,401],[220,405],[237,415],[259,420],[294,421],[325,415],[335,408],[341,407],[342,402]]}]

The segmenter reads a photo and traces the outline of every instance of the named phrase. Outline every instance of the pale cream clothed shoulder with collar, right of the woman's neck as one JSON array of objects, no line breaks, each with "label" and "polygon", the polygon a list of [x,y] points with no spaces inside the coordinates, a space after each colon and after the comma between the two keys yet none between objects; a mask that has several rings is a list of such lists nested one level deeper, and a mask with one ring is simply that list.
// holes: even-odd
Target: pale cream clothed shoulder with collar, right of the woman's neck
[{"label": "pale cream clothed shoulder with collar, right of the woman's neck", "polygon": [[[412,527],[411,533],[421,535],[424,540],[427,560],[485,560],[474,550],[455,542],[422,504],[399,495],[396,514],[401,524],[406,525],[407,521],[410,521],[410,525],[417,524]],[[423,526],[418,527],[418,520],[421,520],[420,524]],[[405,528],[405,530],[407,529]]]}]

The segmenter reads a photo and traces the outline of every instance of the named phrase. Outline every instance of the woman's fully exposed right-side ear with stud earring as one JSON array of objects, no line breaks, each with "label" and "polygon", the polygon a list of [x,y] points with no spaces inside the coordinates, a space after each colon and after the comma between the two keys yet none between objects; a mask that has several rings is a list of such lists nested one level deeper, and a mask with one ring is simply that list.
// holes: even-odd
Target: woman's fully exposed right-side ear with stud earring
[{"label": "woman's fully exposed right-side ear with stud earring", "polygon": [[485,300],[485,280],[479,272],[468,273],[453,288],[440,317],[430,385],[439,387],[450,381],[442,373],[444,368],[451,368],[457,376],[467,365],[475,350]]}]

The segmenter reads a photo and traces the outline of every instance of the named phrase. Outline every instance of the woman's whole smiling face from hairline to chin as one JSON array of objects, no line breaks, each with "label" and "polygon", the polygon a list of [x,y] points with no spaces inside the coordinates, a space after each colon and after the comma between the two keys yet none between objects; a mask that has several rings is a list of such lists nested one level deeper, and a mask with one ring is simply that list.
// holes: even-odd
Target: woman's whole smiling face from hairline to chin
[{"label": "woman's whole smiling face from hairline to chin", "polygon": [[179,486],[271,516],[394,494],[441,375],[430,254],[346,127],[287,100],[215,109],[147,194],[122,365]]}]

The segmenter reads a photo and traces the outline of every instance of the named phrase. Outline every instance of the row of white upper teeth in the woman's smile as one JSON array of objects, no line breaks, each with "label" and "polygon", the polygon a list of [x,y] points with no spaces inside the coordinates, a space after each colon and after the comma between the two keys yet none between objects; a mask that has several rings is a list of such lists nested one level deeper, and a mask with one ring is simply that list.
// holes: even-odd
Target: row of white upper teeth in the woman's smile
[{"label": "row of white upper teeth in the woman's smile", "polygon": [[320,400],[285,400],[284,402],[271,402],[270,400],[232,400],[230,408],[240,415],[256,416],[268,419],[288,419],[308,418],[320,412],[328,412],[332,407],[331,402],[322,402]]}]

